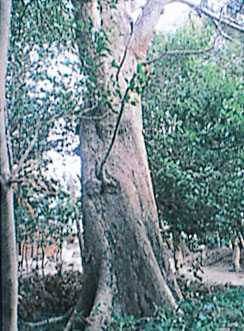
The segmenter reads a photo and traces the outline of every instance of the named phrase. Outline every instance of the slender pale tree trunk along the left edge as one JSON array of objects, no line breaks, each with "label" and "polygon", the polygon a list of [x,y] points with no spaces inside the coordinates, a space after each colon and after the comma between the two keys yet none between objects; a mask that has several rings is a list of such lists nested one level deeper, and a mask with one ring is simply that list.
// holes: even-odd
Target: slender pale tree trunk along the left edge
[{"label": "slender pale tree trunk along the left edge", "polygon": [[5,132],[5,81],[9,44],[10,0],[0,0],[0,198],[2,330],[17,330],[17,257],[13,191]]}]

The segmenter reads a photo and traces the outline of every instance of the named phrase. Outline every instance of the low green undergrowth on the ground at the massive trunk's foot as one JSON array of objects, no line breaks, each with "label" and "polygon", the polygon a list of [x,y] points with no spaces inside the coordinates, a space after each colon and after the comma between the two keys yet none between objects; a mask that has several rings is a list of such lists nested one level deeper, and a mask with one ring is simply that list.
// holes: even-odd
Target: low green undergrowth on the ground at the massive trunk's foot
[{"label": "low green undergrowth on the ground at the massive trunk's foot", "polygon": [[[166,307],[157,307],[151,317],[134,318],[133,316],[113,315],[107,331],[160,331],[160,330],[244,330],[244,287],[211,286],[200,282],[181,284],[185,300],[177,312]],[[49,298],[50,300],[50,298]],[[56,302],[56,306],[59,306]],[[50,307],[50,306],[49,306]],[[32,311],[32,313],[34,313]],[[38,312],[34,315],[39,315]],[[56,312],[49,312],[57,316]],[[40,315],[39,315],[40,318]],[[45,318],[43,316],[43,318]],[[30,319],[28,319],[31,321]],[[39,319],[40,320],[40,319]],[[33,320],[34,321],[34,318]],[[19,319],[19,330],[30,330]],[[67,321],[50,324],[32,330],[63,330]],[[78,331],[78,329],[75,329]]]}]

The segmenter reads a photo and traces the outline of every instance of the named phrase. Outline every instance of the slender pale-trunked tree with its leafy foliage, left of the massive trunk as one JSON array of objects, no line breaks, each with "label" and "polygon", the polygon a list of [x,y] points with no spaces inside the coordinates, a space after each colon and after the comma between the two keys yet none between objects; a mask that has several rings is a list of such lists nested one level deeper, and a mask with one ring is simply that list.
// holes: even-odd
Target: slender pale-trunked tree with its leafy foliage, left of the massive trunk
[{"label": "slender pale-trunked tree with its leafy foliage, left of the massive trunk", "polygon": [[[7,59],[10,2],[1,2],[1,275],[3,328],[6,330],[17,329],[17,257],[13,215],[18,243],[22,239],[29,242],[38,239],[40,242],[37,244],[42,247],[47,244],[47,239],[62,240],[67,221],[74,218],[71,197],[59,189],[56,181],[52,182],[46,176],[45,153],[50,148],[58,149],[63,142],[60,139],[55,145],[48,137],[57,119],[65,118],[63,138],[67,131],[74,131],[72,116],[79,103],[79,99],[74,100],[74,95],[83,85],[82,80],[77,80],[72,84],[74,90],[71,92],[70,82],[74,78],[71,77],[71,68],[75,68],[77,73],[79,70],[70,42],[70,8],[63,2],[51,0],[45,3],[13,1],[12,7]],[[69,58],[65,51],[69,52]],[[65,70],[65,74],[58,69]],[[50,204],[58,204],[58,208],[50,208]],[[57,230],[54,224],[58,213],[62,218]],[[38,238],[34,238],[37,235]]]}]

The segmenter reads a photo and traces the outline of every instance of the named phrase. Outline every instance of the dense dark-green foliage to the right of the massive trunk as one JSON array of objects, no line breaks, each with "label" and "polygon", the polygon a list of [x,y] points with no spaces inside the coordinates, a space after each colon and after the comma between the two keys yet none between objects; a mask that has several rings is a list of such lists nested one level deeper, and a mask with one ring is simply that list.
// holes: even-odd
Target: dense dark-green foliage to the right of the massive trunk
[{"label": "dense dark-green foliage to the right of the massive trunk", "polygon": [[[211,28],[154,40],[167,50],[206,49]],[[201,55],[154,62],[143,99],[145,138],[161,215],[205,240],[243,231],[243,44],[215,43]],[[211,233],[211,236],[210,236]]]}]

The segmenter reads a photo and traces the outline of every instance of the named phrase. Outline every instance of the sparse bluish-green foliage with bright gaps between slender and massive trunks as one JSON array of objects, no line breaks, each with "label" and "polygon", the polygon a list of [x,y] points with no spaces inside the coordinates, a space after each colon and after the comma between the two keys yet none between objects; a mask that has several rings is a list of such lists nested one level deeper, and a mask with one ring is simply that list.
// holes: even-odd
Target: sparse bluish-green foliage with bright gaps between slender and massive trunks
[{"label": "sparse bluish-green foliage with bright gaps between slender and massive trunks", "polygon": [[47,153],[66,147],[72,154],[67,136],[74,137],[84,85],[74,40],[69,1],[13,1],[7,134],[19,243],[58,244],[76,217],[70,190],[48,171]]}]

